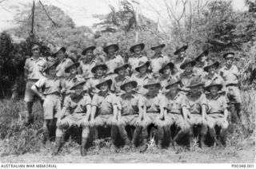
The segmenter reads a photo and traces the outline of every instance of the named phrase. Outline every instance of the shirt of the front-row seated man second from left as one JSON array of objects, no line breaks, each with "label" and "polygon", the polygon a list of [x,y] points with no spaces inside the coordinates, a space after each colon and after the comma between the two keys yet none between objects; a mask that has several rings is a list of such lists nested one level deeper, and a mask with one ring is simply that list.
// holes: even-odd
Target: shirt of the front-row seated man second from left
[{"label": "shirt of the front-row seated man second from left", "polygon": [[94,95],[92,100],[92,106],[98,108],[98,115],[110,115],[113,114],[113,106],[120,106],[118,98],[114,94],[107,92],[106,96],[102,96],[101,92]]}]

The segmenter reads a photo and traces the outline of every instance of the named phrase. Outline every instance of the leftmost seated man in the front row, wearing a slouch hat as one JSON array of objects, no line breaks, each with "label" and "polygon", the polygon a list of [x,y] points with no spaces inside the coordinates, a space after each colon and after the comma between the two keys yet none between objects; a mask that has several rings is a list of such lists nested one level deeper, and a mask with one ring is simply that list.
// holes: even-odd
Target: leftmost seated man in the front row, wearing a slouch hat
[{"label": "leftmost seated man in the front row, wearing a slouch hat", "polygon": [[77,81],[70,88],[74,91],[70,96],[66,96],[61,114],[58,116],[57,130],[56,130],[56,144],[52,155],[57,155],[62,146],[63,134],[67,128],[77,125],[82,126],[82,143],[81,143],[81,155],[86,155],[86,143],[90,134],[88,127],[88,120],[90,117],[90,96],[86,93],[83,95],[83,85],[86,81]]}]

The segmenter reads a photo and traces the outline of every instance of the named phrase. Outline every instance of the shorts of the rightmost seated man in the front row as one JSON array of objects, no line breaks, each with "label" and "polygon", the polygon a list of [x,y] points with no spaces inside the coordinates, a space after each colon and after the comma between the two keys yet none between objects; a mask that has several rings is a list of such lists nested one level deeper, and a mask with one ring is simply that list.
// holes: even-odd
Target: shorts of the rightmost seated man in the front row
[{"label": "shorts of the rightmost seated man in the front row", "polygon": [[228,128],[229,126],[229,122],[226,119],[224,119],[223,114],[208,114],[206,119],[206,123],[209,128],[214,128],[215,125],[221,128]]}]

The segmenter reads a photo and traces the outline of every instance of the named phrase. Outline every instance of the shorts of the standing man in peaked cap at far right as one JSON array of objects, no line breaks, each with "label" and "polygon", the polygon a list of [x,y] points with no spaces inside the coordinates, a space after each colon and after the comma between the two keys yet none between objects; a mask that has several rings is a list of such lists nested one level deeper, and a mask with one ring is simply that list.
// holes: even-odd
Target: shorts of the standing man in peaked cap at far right
[{"label": "shorts of the standing man in peaked cap at far right", "polygon": [[227,86],[226,96],[230,103],[242,103],[241,91],[239,90],[238,86]]}]

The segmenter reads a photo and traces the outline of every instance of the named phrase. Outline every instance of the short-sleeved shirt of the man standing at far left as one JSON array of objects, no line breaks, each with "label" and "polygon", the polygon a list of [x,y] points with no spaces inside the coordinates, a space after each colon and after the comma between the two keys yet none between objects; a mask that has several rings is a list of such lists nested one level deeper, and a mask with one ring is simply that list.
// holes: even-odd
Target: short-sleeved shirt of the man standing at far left
[{"label": "short-sleeved shirt of the man standing at far left", "polygon": [[38,80],[43,76],[43,70],[46,69],[47,61],[43,57],[39,57],[37,60],[34,57],[26,59],[24,69],[28,71],[28,80]]}]

